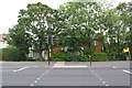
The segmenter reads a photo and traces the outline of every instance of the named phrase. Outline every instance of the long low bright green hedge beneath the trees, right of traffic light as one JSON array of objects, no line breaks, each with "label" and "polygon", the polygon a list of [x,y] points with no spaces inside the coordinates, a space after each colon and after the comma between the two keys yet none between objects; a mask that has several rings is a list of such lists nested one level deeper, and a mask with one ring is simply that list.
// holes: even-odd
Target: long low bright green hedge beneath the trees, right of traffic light
[{"label": "long low bright green hedge beneath the trees, right of traffic light", "polygon": [[[121,55],[119,55],[121,56]],[[91,55],[86,55],[85,53],[68,53],[68,52],[57,52],[52,54],[52,61],[55,62],[107,62],[107,61],[125,61],[124,55],[122,57],[111,56],[107,53],[94,52]]]}]

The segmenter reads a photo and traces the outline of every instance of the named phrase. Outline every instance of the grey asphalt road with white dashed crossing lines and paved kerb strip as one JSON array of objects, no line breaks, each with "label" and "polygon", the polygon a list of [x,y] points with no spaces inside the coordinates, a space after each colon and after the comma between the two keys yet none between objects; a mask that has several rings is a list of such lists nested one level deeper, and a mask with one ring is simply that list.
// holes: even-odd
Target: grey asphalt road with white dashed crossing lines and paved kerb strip
[{"label": "grey asphalt road with white dashed crossing lines and paved kerb strip", "polygon": [[3,62],[2,86],[130,86],[130,62]]}]

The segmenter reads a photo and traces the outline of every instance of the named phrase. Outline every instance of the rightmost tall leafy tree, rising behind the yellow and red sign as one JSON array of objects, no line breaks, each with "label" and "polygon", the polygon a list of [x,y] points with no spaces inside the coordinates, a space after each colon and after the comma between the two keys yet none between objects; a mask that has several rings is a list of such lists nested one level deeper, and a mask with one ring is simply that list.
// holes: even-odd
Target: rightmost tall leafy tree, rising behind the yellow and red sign
[{"label": "rightmost tall leafy tree, rising behind the yellow and red sign", "polygon": [[[120,3],[117,8],[107,10],[100,18],[101,32],[97,36],[102,40],[105,51],[110,57],[121,58],[125,46],[129,14],[127,3]],[[111,48],[112,47],[112,48]]]}]

